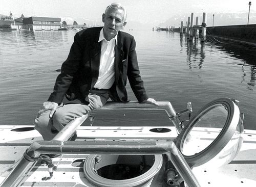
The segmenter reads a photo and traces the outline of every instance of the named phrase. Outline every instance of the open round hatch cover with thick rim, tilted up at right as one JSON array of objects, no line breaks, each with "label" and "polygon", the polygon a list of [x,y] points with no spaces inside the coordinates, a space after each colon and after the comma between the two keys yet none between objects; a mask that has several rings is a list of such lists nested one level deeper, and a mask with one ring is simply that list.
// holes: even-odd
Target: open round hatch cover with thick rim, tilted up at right
[{"label": "open round hatch cover with thick rim, tilted up at right", "polygon": [[240,120],[234,100],[220,98],[205,105],[182,130],[177,147],[189,166],[214,158],[230,141]]}]

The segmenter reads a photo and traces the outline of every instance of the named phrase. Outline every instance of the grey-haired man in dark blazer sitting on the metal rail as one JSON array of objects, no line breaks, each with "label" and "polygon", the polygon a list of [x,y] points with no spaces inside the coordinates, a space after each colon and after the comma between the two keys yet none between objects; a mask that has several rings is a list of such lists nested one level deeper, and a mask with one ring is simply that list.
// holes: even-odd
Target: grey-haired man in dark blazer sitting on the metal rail
[{"label": "grey-haired man in dark blazer sitting on the metal rail", "polygon": [[82,30],[74,37],[54,90],[34,122],[44,140],[52,140],[69,121],[100,108],[109,97],[127,101],[126,77],[139,102],[158,105],[144,89],[133,36],[119,31],[126,24],[126,10],[111,4],[102,21],[103,28]]}]

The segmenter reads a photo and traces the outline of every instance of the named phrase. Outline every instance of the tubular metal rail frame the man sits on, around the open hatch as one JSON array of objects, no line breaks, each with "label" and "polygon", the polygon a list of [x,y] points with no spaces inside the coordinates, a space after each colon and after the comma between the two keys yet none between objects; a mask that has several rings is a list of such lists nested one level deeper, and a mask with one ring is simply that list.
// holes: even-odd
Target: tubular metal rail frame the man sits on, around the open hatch
[{"label": "tubular metal rail frame the man sits on, around the open hatch", "polygon": [[[178,131],[182,130],[179,118],[170,102],[158,102],[158,106],[147,104],[147,103],[138,103],[134,101],[116,103],[116,102],[107,102],[105,106],[98,110],[165,110],[170,120],[174,123]],[[105,144],[104,141],[99,140],[95,144],[91,143],[88,146],[88,142],[65,142],[70,136],[75,132],[75,130],[89,117],[88,114],[83,115],[79,118],[76,118],[70,121],[54,138],[52,141],[38,141],[33,142],[31,146],[26,150],[24,156],[19,160],[17,165],[14,167],[12,172],[1,184],[2,187],[14,187],[19,185],[23,180],[28,170],[33,166],[37,161],[41,153],[89,153],[94,154],[100,152],[101,154],[167,154],[168,158],[181,177],[190,187],[199,187],[199,183],[194,176],[193,172],[186,163],[184,157],[176,147],[173,141],[166,142],[157,142],[153,140],[145,140],[148,144],[142,146],[140,142],[134,142],[129,144],[129,141],[126,141],[125,145],[122,145],[122,142],[116,142],[114,145]],[[108,145],[106,149],[106,145]],[[76,152],[74,149],[79,150]],[[109,151],[111,150],[111,151]]]}]

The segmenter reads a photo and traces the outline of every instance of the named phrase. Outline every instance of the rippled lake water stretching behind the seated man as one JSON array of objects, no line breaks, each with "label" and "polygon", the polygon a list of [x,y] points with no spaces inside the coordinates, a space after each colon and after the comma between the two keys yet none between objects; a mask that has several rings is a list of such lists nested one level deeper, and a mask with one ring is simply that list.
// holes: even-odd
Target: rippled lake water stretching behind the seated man
[{"label": "rippled lake water stretching behind the seated man", "polygon": [[[194,115],[214,99],[236,98],[240,112],[245,113],[245,128],[256,129],[256,62],[251,51],[232,44],[189,43],[179,33],[127,32],[136,39],[141,75],[150,97],[172,102],[176,111],[184,110],[191,101]],[[0,125],[32,124],[52,92],[75,33],[0,31]],[[130,100],[136,100],[129,86],[128,94]],[[103,116],[112,114],[117,115],[103,112]],[[152,112],[119,115],[133,119],[147,115],[161,124],[159,114],[156,119]],[[126,123],[119,117],[115,121]]]}]

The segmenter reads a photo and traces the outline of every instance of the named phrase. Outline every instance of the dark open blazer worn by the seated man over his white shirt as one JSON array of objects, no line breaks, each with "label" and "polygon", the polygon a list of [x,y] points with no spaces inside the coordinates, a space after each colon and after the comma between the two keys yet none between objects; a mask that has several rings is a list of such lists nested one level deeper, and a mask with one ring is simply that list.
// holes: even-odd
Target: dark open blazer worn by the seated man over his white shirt
[{"label": "dark open blazer worn by the seated man over his white shirt", "polygon": [[[69,56],[61,66],[54,90],[48,101],[61,103],[84,103],[90,89],[98,79],[101,42],[99,33],[102,27],[89,28],[78,32],[74,37]],[[118,32],[115,45],[115,82],[111,88],[111,99],[127,101],[126,77],[138,99],[148,98],[140,76],[135,40],[130,34]]]}]

